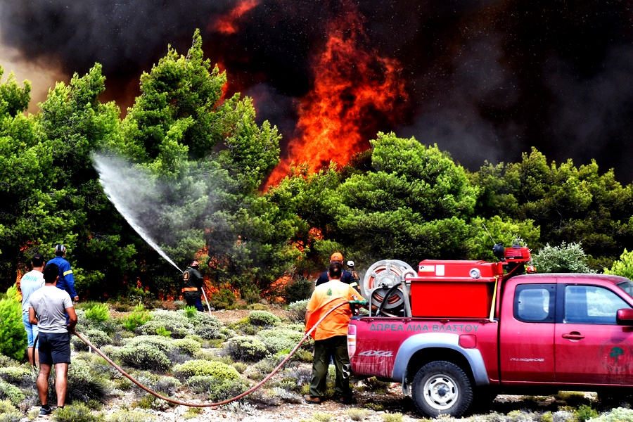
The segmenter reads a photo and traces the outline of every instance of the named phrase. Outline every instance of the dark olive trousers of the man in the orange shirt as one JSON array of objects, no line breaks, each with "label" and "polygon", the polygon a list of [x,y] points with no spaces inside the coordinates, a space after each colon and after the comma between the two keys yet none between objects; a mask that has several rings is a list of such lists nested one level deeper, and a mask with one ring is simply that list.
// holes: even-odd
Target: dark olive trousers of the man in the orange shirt
[{"label": "dark olive trousers of the man in the orange shirt", "polygon": [[330,357],[333,358],[336,369],[334,383],[336,398],[352,397],[350,380],[343,378],[343,365],[350,363],[350,357],[347,355],[347,335],[336,335],[335,337],[314,342],[310,396],[324,397]]}]

